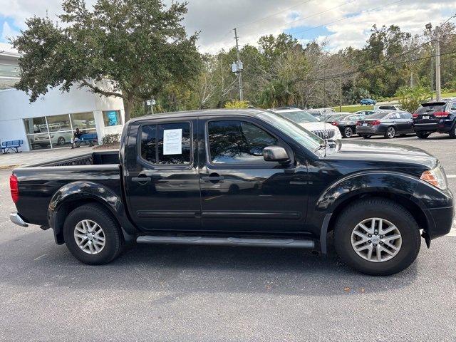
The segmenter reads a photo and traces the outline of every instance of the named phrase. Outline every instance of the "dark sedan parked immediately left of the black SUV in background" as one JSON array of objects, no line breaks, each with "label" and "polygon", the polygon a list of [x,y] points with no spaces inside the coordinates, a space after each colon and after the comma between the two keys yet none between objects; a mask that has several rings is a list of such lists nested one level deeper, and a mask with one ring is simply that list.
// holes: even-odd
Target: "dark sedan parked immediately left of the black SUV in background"
[{"label": "dark sedan parked immediately left of the black SUV in background", "polygon": [[365,139],[372,135],[384,135],[391,139],[396,135],[414,133],[412,115],[403,111],[369,115],[356,123],[356,133]]}]

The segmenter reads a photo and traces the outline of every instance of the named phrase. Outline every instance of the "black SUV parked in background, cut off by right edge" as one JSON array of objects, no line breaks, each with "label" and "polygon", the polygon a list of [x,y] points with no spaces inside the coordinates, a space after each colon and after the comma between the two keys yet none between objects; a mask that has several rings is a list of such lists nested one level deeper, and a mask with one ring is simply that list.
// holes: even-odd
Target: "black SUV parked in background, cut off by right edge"
[{"label": "black SUV parked in background, cut off by right edge", "polygon": [[447,133],[450,138],[456,138],[456,100],[420,105],[413,113],[413,130],[421,139],[434,132]]}]

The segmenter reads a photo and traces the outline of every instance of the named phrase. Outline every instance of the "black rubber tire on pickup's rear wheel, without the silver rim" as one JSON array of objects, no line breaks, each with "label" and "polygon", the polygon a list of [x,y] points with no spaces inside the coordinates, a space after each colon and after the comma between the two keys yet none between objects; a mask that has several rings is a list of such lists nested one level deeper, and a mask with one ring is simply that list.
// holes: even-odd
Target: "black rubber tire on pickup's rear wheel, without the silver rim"
[{"label": "black rubber tire on pickup's rear wheel, without the silver rim", "polygon": [[[103,229],[105,246],[98,254],[88,254],[78,247],[74,232],[76,224],[83,219],[90,219]],[[113,261],[122,252],[125,244],[118,223],[115,222],[107,209],[96,203],[84,204],[68,214],[65,224],[63,224],[63,237],[66,247],[73,254],[73,257],[90,265],[108,264],[108,262]]]}]

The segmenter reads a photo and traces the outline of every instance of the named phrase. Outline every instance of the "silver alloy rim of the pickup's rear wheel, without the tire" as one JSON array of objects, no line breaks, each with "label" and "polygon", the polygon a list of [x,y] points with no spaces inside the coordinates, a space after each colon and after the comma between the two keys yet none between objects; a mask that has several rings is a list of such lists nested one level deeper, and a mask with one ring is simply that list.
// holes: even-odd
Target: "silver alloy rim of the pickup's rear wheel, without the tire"
[{"label": "silver alloy rim of the pickup's rear wheel, without the tire", "polygon": [[74,239],[78,247],[87,254],[98,254],[105,248],[105,232],[91,219],[83,219],[76,224]]}]

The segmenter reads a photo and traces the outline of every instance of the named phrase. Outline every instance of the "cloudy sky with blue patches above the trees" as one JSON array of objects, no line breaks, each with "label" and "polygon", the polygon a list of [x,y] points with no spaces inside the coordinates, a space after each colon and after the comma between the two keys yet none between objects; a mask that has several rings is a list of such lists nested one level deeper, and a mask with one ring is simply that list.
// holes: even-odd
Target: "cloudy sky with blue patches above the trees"
[{"label": "cloudy sky with blue patches above the trees", "polygon": [[[86,0],[88,6],[96,0]],[[164,0],[170,4],[171,0]],[[199,31],[199,50],[215,53],[234,46],[237,27],[241,46],[256,45],[266,34],[289,33],[302,43],[326,41],[337,51],[361,48],[377,26],[395,24],[403,31],[423,33],[456,14],[455,0],[187,0],[183,24]],[[0,51],[11,51],[8,38],[26,28],[31,16],[58,20],[61,0],[0,0]],[[452,19],[456,22],[455,19]]]}]

